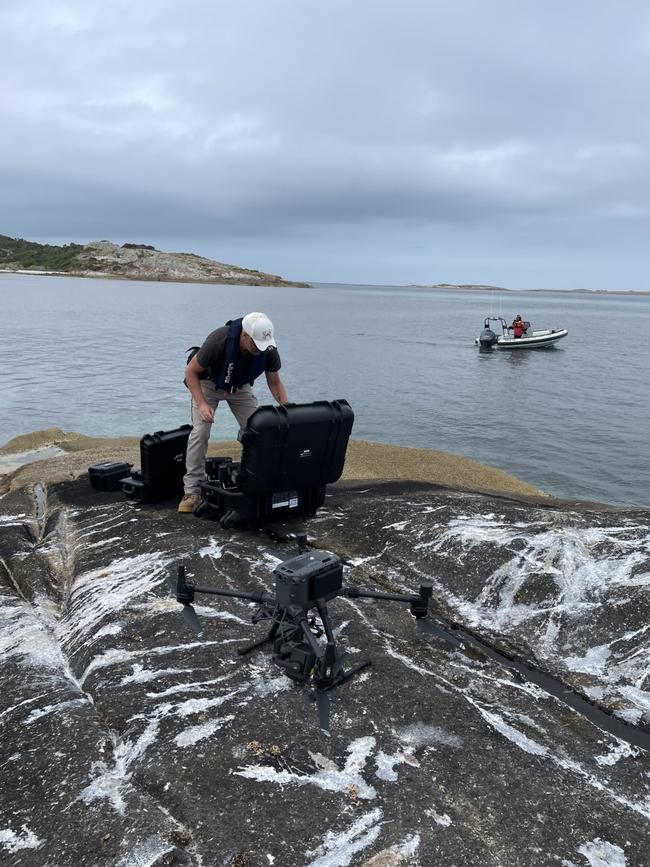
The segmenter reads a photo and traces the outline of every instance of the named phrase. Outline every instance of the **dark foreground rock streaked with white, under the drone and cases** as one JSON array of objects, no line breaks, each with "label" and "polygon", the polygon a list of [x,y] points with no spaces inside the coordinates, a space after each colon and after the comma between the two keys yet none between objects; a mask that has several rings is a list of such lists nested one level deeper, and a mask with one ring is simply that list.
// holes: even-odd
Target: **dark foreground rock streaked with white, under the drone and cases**
[{"label": "dark foreground rock streaked with white, under the drone and cases", "polygon": [[[197,599],[197,641],[168,583],[183,564],[198,584],[268,591],[294,543],[92,490],[87,466],[137,444],[54,429],[0,449],[60,452],[14,467],[0,497],[3,863],[647,865],[648,510],[351,443],[346,480],[285,529],[336,553],[346,584],[431,580],[433,613],[420,630],[395,603],[330,602],[346,665],[372,665],[332,692],[326,737],[268,651],[237,655],[263,632],[254,608]],[[599,728],[458,626],[638,737]]]}]

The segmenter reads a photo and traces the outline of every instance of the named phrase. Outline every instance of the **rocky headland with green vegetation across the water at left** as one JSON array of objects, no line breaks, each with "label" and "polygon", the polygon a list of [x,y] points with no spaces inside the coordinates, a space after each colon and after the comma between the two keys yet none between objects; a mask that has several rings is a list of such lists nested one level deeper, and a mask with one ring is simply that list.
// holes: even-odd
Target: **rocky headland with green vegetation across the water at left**
[{"label": "rocky headland with green vegetation across the water at left", "polygon": [[39,244],[0,235],[0,270],[15,273],[67,274],[74,277],[109,277],[188,283],[238,283],[245,286],[299,286],[309,283],[284,280],[205,259],[194,253],[163,253],[149,244]]}]

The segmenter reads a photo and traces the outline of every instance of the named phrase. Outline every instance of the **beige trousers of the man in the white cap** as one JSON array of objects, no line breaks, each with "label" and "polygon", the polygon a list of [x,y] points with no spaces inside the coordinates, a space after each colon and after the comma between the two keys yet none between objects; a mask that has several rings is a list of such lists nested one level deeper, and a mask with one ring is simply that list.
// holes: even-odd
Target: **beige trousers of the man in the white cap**
[{"label": "beige trousers of the man in the white cap", "polygon": [[[243,385],[237,391],[228,394],[217,388],[209,379],[201,380],[201,390],[209,406],[215,410],[219,402],[225,400],[232,414],[237,419],[240,428],[246,427],[246,422],[257,409],[257,398],[250,385]],[[183,486],[186,494],[200,494],[199,485],[205,480],[205,458],[210,441],[211,421],[203,421],[199,415],[196,401],[192,399],[192,432],[187,442],[185,457],[185,475]]]}]

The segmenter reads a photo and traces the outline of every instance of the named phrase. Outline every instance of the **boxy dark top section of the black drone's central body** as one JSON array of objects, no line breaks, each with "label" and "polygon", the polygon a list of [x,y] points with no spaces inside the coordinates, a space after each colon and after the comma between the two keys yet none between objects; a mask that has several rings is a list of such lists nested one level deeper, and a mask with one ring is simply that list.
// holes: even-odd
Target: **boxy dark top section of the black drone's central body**
[{"label": "boxy dark top section of the black drone's central body", "polygon": [[278,605],[312,608],[316,600],[337,596],[343,586],[343,566],[336,554],[308,551],[285,560],[273,570]]}]

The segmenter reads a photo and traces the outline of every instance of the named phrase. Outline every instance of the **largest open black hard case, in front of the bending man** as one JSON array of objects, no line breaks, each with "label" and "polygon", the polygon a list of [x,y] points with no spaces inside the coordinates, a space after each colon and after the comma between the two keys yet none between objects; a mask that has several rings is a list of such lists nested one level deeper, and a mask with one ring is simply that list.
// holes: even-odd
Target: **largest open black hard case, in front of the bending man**
[{"label": "largest open black hard case, in front of the bending man", "polygon": [[341,477],[353,421],[346,400],[260,407],[239,432],[241,461],[208,459],[195,514],[224,529],[314,514]]}]

